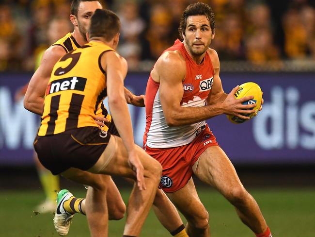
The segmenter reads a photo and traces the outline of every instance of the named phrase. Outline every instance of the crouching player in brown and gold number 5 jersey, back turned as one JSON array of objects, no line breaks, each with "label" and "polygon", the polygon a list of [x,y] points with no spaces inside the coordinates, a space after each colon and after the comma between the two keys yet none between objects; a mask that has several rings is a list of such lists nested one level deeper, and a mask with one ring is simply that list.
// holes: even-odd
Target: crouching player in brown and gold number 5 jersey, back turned
[{"label": "crouching player in brown and gold number 5 jersey, back turned", "polygon": [[[124,237],[137,237],[155,198],[162,167],[133,140],[124,95],[127,64],[115,52],[119,32],[120,20],[116,14],[95,10],[88,32],[89,43],[65,54],[52,70],[34,148],[40,162],[53,174],[90,185],[89,190],[94,189],[93,182],[90,184],[86,173],[135,179]],[[121,138],[100,129],[94,122],[97,106],[106,96]],[[106,189],[90,194],[88,191],[85,211],[91,236],[107,236]],[[81,202],[66,204],[71,193],[64,192],[61,196],[55,220],[71,216],[66,211],[71,205],[80,209]],[[55,228],[63,229],[63,225],[57,224]]]}]

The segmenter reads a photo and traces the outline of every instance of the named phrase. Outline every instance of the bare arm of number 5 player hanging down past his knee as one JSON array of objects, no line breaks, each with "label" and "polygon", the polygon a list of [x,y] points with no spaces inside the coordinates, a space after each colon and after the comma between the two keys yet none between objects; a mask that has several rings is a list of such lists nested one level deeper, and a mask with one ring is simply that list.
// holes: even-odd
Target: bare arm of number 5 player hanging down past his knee
[{"label": "bare arm of number 5 player hanging down past his knee", "polygon": [[145,189],[143,166],[136,152],[131,118],[124,93],[127,64],[116,52],[108,51],[102,55],[101,65],[107,75],[106,85],[111,116],[128,152],[129,164],[137,173],[138,186],[140,190]]}]

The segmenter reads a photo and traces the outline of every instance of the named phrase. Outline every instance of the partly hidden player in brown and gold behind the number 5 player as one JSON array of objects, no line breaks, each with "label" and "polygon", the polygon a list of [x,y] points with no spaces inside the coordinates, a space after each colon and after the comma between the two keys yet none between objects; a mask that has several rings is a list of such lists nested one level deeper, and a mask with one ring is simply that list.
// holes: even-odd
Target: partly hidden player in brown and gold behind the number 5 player
[{"label": "partly hidden player in brown and gold behind the number 5 player", "polygon": [[[31,112],[42,114],[44,107],[44,95],[48,80],[53,66],[62,57],[66,52],[73,49],[77,49],[80,45],[85,44],[86,41],[86,32],[89,26],[91,16],[93,15],[96,9],[102,8],[101,4],[97,0],[74,0],[71,5],[71,15],[70,19],[73,23],[75,29],[73,33],[66,34],[63,38],[54,43],[43,55],[39,69],[34,73],[31,78],[29,88],[27,90],[24,106]],[[125,97],[128,103],[131,103],[136,106],[144,106],[144,96],[135,96],[130,91],[125,88]],[[106,115],[106,118],[111,119],[110,115],[107,113],[105,107],[100,104],[98,107],[97,120],[103,119],[103,114]],[[102,110],[103,109],[103,110]],[[96,121],[103,129],[108,129],[106,124]],[[118,135],[115,127],[112,123],[109,125],[110,133]],[[122,198],[117,190],[117,187],[110,179],[109,181],[102,181],[98,176],[86,174],[91,178],[91,181],[94,180],[94,191],[107,188],[107,202],[108,205],[109,219],[118,220],[124,216],[125,213],[125,203],[123,203]],[[102,175],[100,175],[102,176]],[[95,178],[94,178],[95,177]],[[109,183],[107,183],[109,182]],[[88,190],[88,193],[91,190]],[[74,197],[72,197],[74,198]],[[85,200],[76,199],[76,203],[80,203],[83,206],[85,205]],[[162,225],[175,237],[186,237],[185,227],[182,220],[180,219],[176,208],[169,201],[167,196],[161,191],[157,190],[157,198],[154,201],[153,209],[157,215],[157,218],[162,223]],[[73,208],[68,210],[68,213],[83,213],[85,211],[78,208]],[[71,216],[72,217],[72,216]],[[64,222],[64,228],[57,230],[59,234],[66,234],[69,231],[70,221]]]}]

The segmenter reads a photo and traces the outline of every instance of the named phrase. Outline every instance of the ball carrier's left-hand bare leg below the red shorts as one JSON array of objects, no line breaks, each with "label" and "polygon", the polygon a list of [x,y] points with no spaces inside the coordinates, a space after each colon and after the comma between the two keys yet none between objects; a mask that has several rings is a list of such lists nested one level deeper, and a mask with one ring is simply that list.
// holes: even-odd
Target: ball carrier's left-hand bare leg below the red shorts
[{"label": "ball carrier's left-hand bare leg below the red shorts", "polygon": [[185,216],[189,237],[209,237],[209,214],[201,203],[192,178],[183,188],[167,193],[178,210]]}]

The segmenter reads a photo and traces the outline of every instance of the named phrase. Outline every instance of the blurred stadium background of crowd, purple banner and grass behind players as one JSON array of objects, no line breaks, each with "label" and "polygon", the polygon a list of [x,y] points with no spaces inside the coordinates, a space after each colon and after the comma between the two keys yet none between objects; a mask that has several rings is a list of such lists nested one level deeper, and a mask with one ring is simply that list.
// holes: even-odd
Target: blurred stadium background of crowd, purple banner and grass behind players
[{"label": "blurred stadium background of crowd, purple banner and grass behind players", "polygon": [[[144,93],[148,71],[178,37],[178,20],[191,0],[111,0],[104,5],[122,20],[118,51],[126,57],[126,87]],[[315,3],[311,0],[209,0],[216,15],[212,47],[221,60],[223,89],[253,81],[264,91],[258,117],[241,125],[224,116],[209,120],[221,147],[252,192],[274,236],[315,236]],[[0,236],[56,236],[49,214],[35,215],[44,196],[32,160],[39,118],[16,101],[36,59],[49,46],[54,18],[69,24],[67,0],[0,2]],[[135,138],[142,144],[144,110],[129,106]],[[130,186],[117,179],[126,198]],[[214,237],[250,237],[233,207],[196,180]],[[61,186],[84,189],[61,179]],[[110,222],[120,236],[124,221]],[[6,223],[6,224],[4,224]],[[153,231],[153,233],[152,233]],[[77,215],[69,236],[88,236]],[[152,213],[142,236],[167,236]]]}]

